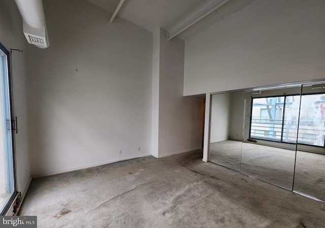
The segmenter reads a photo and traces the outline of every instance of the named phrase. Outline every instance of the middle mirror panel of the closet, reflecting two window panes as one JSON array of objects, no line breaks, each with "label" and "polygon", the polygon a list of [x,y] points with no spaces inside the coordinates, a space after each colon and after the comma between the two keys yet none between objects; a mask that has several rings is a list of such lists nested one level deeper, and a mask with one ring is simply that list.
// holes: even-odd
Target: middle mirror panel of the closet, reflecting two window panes
[{"label": "middle mirror panel of the closet, reflecting two window panes", "polygon": [[246,93],[241,172],[293,188],[301,87]]}]

